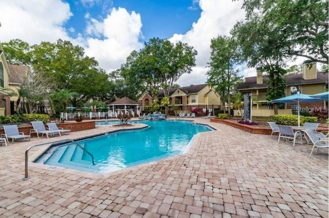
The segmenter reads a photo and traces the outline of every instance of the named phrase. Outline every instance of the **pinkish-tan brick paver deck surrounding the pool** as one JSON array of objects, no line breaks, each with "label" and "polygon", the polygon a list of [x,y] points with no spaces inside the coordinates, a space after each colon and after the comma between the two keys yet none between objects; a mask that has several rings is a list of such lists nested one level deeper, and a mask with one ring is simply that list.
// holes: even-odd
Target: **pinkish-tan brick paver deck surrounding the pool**
[{"label": "pinkish-tan brick paver deck surrounding the pool", "polygon": [[309,157],[311,145],[194,120],[217,130],[187,153],[103,175],[29,163],[24,181],[24,154],[114,127],[2,145],[0,217],[328,217],[328,149]]}]

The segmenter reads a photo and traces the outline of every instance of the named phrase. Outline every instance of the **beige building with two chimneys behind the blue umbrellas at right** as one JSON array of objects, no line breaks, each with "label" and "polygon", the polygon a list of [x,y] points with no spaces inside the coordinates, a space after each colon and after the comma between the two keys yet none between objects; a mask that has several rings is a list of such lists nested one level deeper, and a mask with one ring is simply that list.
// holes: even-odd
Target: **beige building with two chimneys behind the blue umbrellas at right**
[{"label": "beige building with two chimneys behind the blue umbrellas at right", "polygon": [[[285,75],[286,88],[285,96],[296,94],[317,94],[328,90],[328,73],[318,72],[316,63],[307,66],[303,63],[303,72],[300,74]],[[246,77],[245,82],[237,87],[237,92],[242,94],[249,93],[252,99],[252,115],[253,116],[269,116],[274,114],[273,105],[267,102],[267,82],[269,78],[263,75],[261,69],[257,69],[257,76]],[[312,105],[310,105],[312,104]],[[317,103],[302,103],[301,107],[324,107],[323,101]],[[238,110],[234,110],[234,115],[238,114]],[[282,114],[296,114],[297,104],[285,104],[285,108],[279,110]]]}]

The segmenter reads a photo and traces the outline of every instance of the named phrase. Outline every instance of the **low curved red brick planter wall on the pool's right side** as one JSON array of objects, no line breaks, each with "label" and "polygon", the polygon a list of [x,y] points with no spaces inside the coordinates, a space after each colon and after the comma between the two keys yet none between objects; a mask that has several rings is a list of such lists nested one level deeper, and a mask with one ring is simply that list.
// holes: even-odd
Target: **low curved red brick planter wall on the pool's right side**
[{"label": "low curved red brick planter wall on the pool's right side", "polygon": [[229,120],[220,120],[220,119],[210,119],[210,122],[213,123],[221,123],[232,126],[237,129],[244,130],[246,132],[250,132],[252,134],[262,134],[262,135],[270,135],[272,130],[270,128],[257,127],[257,126],[249,126],[245,124],[239,124],[236,121]]}]

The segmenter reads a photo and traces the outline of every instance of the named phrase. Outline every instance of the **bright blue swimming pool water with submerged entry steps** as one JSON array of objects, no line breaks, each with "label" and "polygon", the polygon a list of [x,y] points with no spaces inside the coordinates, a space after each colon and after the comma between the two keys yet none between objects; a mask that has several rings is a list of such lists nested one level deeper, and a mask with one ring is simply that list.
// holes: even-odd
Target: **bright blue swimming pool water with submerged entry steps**
[{"label": "bright blue swimming pool water with submerged entry steps", "polygon": [[[111,125],[118,122],[98,122]],[[137,122],[129,122],[137,123]],[[76,145],[53,146],[37,163],[45,163],[88,172],[107,173],[136,166],[160,158],[180,154],[198,132],[211,131],[208,126],[190,121],[138,121],[150,127],[125,130],[88,138],[78,143],[94,155],[92,157]]]}]

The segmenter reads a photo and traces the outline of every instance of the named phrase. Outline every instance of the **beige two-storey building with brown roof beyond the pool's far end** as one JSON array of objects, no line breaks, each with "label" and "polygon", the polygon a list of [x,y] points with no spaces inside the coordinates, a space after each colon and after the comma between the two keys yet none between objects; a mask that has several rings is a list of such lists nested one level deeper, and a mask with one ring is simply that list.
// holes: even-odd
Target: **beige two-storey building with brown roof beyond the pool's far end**
[{"label": "beige two-storey building with brown roof beyond the pool's far end", "polygon": [[[159,91],[157,98],[159,104],[165,97],[163,91]],[[179,106],[181,112],[192,112],[197,109],[198,115],[205,115],[208,112],[214,112],[221,107],[220,96],[207,84],[191,85],[187,87],[174,88],[169,91],[170,106]],[[152,107],[153,97],[149,91],[145,91],[138,102],[141,104],[141,110]]]}]

